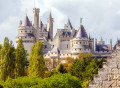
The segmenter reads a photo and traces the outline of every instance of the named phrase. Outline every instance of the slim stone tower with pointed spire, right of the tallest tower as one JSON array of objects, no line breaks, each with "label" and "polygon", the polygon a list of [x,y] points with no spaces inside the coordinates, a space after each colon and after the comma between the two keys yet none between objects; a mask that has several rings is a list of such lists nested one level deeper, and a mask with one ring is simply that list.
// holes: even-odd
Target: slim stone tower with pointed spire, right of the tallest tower
[{"label": "slim stone tower with pointed spire, right of the tallest tower", "polygon": [[51,16],[51,13],[47,19],[48,22],[48,38],[53,40],[53,18]]}]

